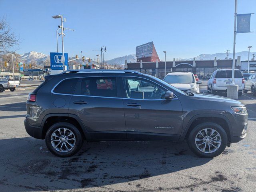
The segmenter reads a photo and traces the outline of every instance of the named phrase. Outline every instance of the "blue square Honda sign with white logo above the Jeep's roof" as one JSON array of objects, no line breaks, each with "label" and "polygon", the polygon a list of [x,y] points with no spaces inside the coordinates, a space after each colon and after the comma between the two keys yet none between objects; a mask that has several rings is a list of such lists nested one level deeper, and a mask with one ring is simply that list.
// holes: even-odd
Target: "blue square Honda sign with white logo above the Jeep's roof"
[{"label": "blue square Honda sign with white logo above the Jeep's roof", "polygon": [[[51,70],[63,70],[62,53],[50,53]],[[64,64],[68,68],[68,54],[64,53]]]}]

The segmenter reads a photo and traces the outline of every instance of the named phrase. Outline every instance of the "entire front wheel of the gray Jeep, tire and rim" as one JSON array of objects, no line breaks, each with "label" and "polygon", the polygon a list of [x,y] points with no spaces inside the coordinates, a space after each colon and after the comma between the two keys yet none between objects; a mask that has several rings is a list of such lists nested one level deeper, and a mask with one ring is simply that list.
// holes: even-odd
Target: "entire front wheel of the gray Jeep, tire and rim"
[{"label": "entire front wheel of the gray Jeep, tire and rim", "polygon": [[197,125],[189,134],[188,145],[200,157],[216,157],[226,148],[228,137],[218,124],[205,122]]}]

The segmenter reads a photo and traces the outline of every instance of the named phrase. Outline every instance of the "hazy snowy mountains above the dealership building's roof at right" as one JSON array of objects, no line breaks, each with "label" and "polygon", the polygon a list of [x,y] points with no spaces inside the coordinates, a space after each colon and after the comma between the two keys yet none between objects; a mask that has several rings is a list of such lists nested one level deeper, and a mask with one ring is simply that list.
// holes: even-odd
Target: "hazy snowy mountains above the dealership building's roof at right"
[{"label": "hazy snowy mountains above the dealership building's roof at right", "polygon": [[[252,54],[256,54],[256,52],[250,52],[250,59],[252,58]],[[235,54],[235,58],[237,58],[237,56],[241,56],[241,61],[248,60],[248,51],[238,52]],[[225,59],[226,53],[200,54],[196,57],[196,60],[213,60],[214,57],[217,57],[217,59]],[[228,53],[228,59],[230,58],[233,58],[233,53]],[[182,60],[193,60],[193,58]]]}]

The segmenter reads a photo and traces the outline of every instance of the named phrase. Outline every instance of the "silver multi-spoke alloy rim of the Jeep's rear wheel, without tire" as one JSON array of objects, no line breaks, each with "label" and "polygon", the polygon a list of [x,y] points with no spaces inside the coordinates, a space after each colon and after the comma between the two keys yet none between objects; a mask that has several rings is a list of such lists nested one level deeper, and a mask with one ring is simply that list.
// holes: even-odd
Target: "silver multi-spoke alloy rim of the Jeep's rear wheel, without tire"
[{"label": "silver multi-spoke alloy rim of the Jeep's rear wheel, without tire", "polygon": [[58,128],[51,135],[52,147],[58,152],[68,152],[76,144],[76,136],[68,128]]}]

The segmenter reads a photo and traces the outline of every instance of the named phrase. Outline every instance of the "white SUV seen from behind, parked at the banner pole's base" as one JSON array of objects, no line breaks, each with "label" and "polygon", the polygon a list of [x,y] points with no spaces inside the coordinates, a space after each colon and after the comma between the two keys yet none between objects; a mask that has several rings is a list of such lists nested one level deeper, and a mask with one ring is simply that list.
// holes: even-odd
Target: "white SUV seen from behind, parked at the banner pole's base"
[{"label": "white SUV seen from behind, parked at the banner pole's base", "polygon": [[[235,84],[238,85],[238,96],[242,96],[244,90],[244,77],[240,70],[235,69]],[[232,83],[232,69],[218,69],[212,73],[208,80],[207,90],[211,94],[227,92],[227,87]]]}]

